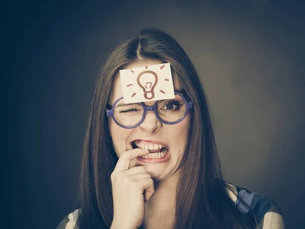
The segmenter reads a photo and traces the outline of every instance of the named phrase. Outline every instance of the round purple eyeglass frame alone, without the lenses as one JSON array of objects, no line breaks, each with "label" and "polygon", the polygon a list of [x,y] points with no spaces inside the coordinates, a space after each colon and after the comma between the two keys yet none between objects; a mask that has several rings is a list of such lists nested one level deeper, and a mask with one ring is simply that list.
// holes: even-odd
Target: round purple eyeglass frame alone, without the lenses
[{"label": "round purple eyeglass frame alone, without the lenses", "polygon": [[143,123],[145,117],[146,117],[146,111],[154,111],[156,117],[159,119],[160,122],[162,122],[162,123],[164,123],[164,124],[167,124],[167,125],[174,125],[174,124],[177,124],[177,123],[181,122],[181,121],[187,116],[187,113],[188,113],[189,109],[192,109],[192,108],[193,108],[193,103],[192,103],[192,101],[189,101],[189,102],[188,102],[188,101],[186,100],[186,98],[184,97],[184,95],[182,95],[181,93],[178,93],[178,92],[174,92],[174,94],[181,96],[181,98],[185,101],[185,104],[186,104],[186,111],[185,111],[184,115],[183,115],[178,121],[175,121],[175,122],[172,122],[172,123],[166,122],[166,121],[162,120],[162,119],[158,116],[158,113],[157,113],[157,111],[156,111],[156,107],[157,107],[157,102],[158,102],[159,100],[156,100],[156,102],[155,102],[155,104],[154,104],[153,106],[145,106],[144,102],[141,102],[141,105],[142,105],[142,107],[143,107],[142,119],[141,119],[141,121],[140,121],[138,124],[136,124],[135,126],[123,126],[123,125],[121,125],[120,123],[118,123],[118,122],[116,121],[116,119],[114,118],[114,114],[113,114],[114,107],[115,107],[116,103],[117,103],[119,100],[123,99],[124,97],[121,97],[121,98],[117,99],[117,100],[113,103],[113,105],[112,105],[112,107],[111,107],[110,110],[106,108],[106,115],[107,115],[107,117],[111,117],[111,118],[113,119],[113,121],[114,121],[118,126],[123,127],[123,128],[125,128],[125,129],[132,129],[132,128],[136,128],[137,126],[141,125],[141,124]]}]

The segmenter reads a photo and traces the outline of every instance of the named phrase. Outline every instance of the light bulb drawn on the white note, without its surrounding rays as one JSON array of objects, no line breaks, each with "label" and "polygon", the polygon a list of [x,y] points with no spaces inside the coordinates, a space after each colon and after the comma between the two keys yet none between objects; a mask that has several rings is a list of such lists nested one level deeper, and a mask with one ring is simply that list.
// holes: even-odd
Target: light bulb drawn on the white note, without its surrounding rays
[{"label": "light bulb drawn on the white note, without its surrounding rays", "polygon": [[144,92],[145,99],[155,98],[155,87],[158,83],[158,75],[154,71],[146,70],[141,72],[137,77],[137,83]]}]

